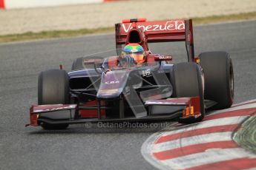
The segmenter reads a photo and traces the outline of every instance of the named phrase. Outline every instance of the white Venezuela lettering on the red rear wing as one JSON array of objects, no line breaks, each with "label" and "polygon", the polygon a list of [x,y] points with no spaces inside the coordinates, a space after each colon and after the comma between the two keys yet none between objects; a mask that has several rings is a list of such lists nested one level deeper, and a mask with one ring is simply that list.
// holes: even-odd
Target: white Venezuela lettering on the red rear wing
[{"label": "white Venezuela lettering on the red rear wing", "polygon": [[[166,21],[165,24],[148,24],[148,25],[137,25],[143,32],[151,32],[151,31],[171,31],[171,30],[184,30],[185,23],[184,21]],[[122,24],[122,29],[125,33],[128,33],[131,30],[130,24]]]}]

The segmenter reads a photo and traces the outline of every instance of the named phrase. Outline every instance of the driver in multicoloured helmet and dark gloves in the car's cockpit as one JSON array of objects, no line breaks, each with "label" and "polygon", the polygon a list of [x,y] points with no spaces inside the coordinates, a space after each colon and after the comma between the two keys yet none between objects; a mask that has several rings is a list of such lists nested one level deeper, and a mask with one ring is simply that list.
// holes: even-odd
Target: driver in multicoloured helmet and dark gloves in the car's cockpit
[{"label": "driver in multicoloured helmet and dark gloves in the car's cockpit", "polygon": [[145,52],[140,44],[128,44],[122,50],[122,56],[119,58],[121,66],[128,65],[131,67],[134,64],[142,64],[145,62]]}]

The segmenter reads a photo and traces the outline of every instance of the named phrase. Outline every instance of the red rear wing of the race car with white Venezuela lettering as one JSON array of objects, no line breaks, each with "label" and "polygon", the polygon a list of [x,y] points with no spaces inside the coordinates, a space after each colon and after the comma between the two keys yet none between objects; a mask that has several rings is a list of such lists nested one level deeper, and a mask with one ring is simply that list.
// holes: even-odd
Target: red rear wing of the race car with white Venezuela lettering
[{"label": "red rear wing of the race car with white Venezuela lettering", "polygon": [[194,60],[192,20],[146,21],[143,18],[123,20],[115,24],[116,47],[127,43],[128,33],[140,29],[145,34],[145,43],[185,41],[188,61]]}]

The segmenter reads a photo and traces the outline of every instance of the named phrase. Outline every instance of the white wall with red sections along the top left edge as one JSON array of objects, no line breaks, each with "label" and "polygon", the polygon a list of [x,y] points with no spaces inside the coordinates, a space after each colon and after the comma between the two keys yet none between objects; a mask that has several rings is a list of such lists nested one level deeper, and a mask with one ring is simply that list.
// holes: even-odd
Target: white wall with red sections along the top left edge
[{"label": "white wall with red sections along the top left edge", "polygon": [[118,0],[0,0],[0,9],[54,7],[73,4],[95,4]]}]

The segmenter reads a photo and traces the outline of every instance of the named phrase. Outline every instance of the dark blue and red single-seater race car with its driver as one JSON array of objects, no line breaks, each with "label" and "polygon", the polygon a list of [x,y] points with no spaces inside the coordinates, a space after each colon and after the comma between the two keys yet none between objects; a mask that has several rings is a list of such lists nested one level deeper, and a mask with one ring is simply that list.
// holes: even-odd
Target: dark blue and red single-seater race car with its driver
[{"label": "dark blue and red single-seater race car with its driver", "polygon": [[[27,126],[65,129],[74,123],[174,118],[195,123],[206,109],[232,106],[232,59],[222,51],[195,56],[191,19],[125,19],[115,32],[114,55],[76,58],[70,72],[60,67],[40,73],[38,105],[30,107]],[[174,41],[185,41],[187,62],[174,64],[175,56],[148,47]]]}]

